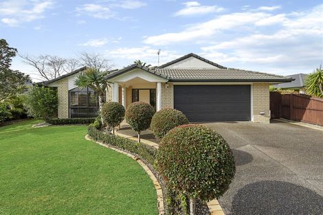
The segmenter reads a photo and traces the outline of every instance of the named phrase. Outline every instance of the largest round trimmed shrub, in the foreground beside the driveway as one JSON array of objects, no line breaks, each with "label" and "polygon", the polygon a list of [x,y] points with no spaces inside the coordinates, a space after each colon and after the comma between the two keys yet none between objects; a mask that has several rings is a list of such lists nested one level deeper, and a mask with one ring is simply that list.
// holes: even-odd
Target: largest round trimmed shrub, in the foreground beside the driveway
[{"label": "largest round trimmed shrub, in the foreground beside the driveway", "polygon": [[156,166],[171,188],[190,199],[219,198],[234,178],[234,156],[225,139],[210,128],[186,124],[161,139]]}]

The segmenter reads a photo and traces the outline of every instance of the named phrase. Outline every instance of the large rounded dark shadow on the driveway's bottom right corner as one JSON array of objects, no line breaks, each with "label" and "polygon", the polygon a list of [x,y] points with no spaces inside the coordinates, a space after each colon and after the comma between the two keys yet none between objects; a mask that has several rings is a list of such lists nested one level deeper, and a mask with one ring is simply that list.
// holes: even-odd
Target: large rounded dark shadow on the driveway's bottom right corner
[{"label": "large rounded dark shadow on the driveway's bottom right corner", "polygon": [[232,214],[323,214],[323,196],[284,181],[245,185],[234,196]]}]

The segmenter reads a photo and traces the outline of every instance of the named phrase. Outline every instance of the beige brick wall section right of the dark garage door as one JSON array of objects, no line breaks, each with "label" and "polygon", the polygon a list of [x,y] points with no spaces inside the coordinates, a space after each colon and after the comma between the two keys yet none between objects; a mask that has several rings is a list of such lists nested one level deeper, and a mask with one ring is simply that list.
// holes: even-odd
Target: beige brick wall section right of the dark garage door
[{"label": "beige brick wall section right of the dark garage door", "polygon": [[[269,83],[254,83],[252,86],[254,122],[269,123]],[[265,113],[260,115],[260,112]]]}]

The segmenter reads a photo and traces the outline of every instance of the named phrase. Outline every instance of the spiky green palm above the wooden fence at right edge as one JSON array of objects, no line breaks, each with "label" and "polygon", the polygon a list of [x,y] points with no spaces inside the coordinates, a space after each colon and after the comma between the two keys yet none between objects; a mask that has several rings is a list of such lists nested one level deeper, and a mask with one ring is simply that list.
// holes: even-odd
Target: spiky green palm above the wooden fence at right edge
[{"label": "spiky green palm above the wooden fence at right edge", "polygon": [[323,70],[322,66],[307,76],[307,93],[309,95],[323,97]]}]

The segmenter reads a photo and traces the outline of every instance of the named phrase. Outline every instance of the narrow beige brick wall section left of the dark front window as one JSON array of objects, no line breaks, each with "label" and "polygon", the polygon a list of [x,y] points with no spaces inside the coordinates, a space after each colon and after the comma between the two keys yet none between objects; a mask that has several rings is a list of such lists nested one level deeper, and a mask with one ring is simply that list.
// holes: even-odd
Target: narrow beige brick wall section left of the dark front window
[{"label": "narrow beige brick wall section left of the dark front window", "polygon": [[69,117],[69,82],[67,78],[58,80],[57,82],[58,95],[58,118]]}]

